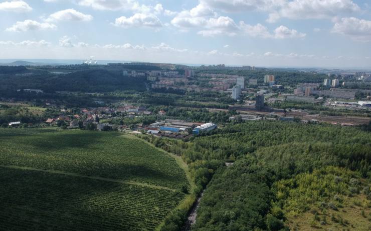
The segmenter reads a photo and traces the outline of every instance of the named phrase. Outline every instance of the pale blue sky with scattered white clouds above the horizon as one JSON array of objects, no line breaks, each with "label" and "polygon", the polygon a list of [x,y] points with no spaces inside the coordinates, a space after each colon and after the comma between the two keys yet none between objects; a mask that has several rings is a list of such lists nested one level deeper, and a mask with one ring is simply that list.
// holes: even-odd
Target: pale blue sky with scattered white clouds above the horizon
[{"label": "pale blue sky with scattered white clouds above the horizon", "polygon": [[0,0],[0,58],[371,67],[370,0]]}]

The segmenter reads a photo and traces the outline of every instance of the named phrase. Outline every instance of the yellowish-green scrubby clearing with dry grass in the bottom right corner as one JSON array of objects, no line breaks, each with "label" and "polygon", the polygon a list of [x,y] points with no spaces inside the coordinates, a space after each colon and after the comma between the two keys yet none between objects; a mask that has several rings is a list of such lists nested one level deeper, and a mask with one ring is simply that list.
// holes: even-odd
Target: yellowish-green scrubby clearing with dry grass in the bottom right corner
[{"label": "yellowish-green scrubby clearing with dry grass in the bottom right corner", "polygon": [[327,166],[273,186],[291,230],[370,230],[370,183],[346,168]]}]

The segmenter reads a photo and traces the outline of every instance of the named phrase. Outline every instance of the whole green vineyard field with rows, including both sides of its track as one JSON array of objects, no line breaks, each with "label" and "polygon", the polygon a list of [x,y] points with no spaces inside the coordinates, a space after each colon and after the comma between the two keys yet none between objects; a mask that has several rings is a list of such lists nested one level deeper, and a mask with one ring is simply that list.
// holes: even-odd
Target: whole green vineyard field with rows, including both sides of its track
[{"label": "whole green vineyard field with rows, including both sides of its track", "polygon": [[190,189],[175,158],[127,134],[0,137],[0,230],[154,230]]}]

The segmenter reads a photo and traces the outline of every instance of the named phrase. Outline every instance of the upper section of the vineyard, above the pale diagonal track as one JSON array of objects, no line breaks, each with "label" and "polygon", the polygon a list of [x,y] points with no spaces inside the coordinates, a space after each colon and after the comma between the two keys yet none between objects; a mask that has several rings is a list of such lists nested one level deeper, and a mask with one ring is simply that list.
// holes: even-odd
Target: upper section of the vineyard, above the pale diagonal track
[{"label": "upper section of the vineyard, above the pale diagonal track", "polygon": [[[22,130],[20,130],[22,131]],[[174,158],[119,132],[52,131],[3,136],[0,164],[166,186],[187,184]]]}]

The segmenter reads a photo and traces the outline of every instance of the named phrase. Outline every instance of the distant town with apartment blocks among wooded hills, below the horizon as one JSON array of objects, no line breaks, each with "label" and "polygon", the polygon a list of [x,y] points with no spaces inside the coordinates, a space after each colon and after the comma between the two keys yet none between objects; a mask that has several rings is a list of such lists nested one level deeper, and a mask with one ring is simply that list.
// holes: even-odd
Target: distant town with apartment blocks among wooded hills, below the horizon
[{"label": "distant town with apartment blocks among wooded hills, below the horizon", "polygon": [[[65,129],[135,130],[158,136],[188,139],[203,130],[228,120],[283,120],[328,122],[343,126],[370,121],[371,72],[339,69],[284,69],[254,66],[201,65],[167,63],[108,63],[98,65],[0,66],[16,81],[3,83],[1,95],[3,127],[60,126]],[[149,98],[138,100],[137,92],[117,92],[111,79],[99,80],[95,91],[74,90],[92,70],[109,73],[116,81],[130,79]],[[76,73],[78,76],[73,76]],[[47,75],[69,79],[55,85],[50,80],[25,84]],[[94,81],[95,79],[93,79]],[[3,80],[4,81],[4,80]],[[17,82],[19,81],[19,82]],[[13,88],[8,88],[12,84]],[[49,85],[49,84],[52,84]],[[107,88],[105,85],[110,85]],[[125,86],[130,88],[130,86]],[[131,90],[131,89],[130,89]],[[168,95],[176,96],[167,98]],[[187,100],[179,98],[187,95]],[[84,99],[79,105],[63,96]],[[156,101],[155,98],[159,101]],[[165,100],[161,103],[161,100]],[[27,110],[28,113],[21,111]],[[223,118],[207,121],[184,115],[186,111],[223,113]],[[13,113],[12,113],[13,112]],[[3,115],[2,114],[2,115]]]}]

